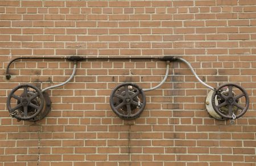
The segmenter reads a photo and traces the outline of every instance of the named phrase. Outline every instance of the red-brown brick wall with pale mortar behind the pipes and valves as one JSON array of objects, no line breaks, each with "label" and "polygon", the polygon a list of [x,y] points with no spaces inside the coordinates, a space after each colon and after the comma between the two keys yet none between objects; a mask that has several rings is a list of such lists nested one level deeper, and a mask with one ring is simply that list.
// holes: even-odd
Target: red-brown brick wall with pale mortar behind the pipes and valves
[{"label": "red-brown brick wall with pale mortar behind the pipes and valves", "polygon": [[[0,166],[254,165],[256,161],[256,1],[0,1]],[[19,83],[64,82],[68,61],[18,56],[180,56],[213,87],[235,82],[250,96],[235,124],[209,117],[209,90],[184,63],[171,63],[142,116],[124,121],[109,106],[122,82],[162,80],[160,61],[84,61],[75,79],[48,91],[52,111],[37,122],[9,117],[6,97]]]}]

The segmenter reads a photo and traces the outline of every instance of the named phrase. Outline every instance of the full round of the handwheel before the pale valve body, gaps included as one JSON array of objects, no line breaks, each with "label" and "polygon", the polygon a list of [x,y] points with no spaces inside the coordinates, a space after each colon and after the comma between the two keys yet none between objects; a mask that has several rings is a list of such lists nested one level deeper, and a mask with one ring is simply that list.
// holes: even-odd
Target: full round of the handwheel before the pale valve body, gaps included
[{"label": "full round of the handwheel before the pale valve body, gaps included", "polygon": [[212,106],[221,117],[236,119],[243,116],[249,108],[249,96],[237,84],[222,84],[213,92]]}]

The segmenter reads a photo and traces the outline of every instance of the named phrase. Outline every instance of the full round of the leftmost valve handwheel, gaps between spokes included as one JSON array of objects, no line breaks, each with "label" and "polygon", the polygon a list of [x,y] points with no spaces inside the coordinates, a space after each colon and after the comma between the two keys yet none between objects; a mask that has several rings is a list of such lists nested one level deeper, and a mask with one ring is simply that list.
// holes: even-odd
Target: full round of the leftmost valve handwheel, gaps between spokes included
[{"label": "full round of the leftmost valve handwheel, gaps between spokes included", "polygon": [[10,92],[6,105],[11,117],[18,120],[31,120],[42,111],[44,96],[38,87],[22,84]]}]

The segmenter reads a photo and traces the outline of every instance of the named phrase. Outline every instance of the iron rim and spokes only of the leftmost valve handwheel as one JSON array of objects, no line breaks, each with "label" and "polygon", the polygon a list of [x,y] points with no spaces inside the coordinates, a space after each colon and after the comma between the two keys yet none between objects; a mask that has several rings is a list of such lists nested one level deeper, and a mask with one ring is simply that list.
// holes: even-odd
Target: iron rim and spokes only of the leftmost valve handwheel
[{"label": "iron rim and spokes only of the leftmost valve handwheel", "polygon": [[[15,92],[19,89],[23,89],[22,96],[15,95]],[[34,89],[35,95],[28,96],[28,88]],[[40,105],[35,105],[31,101],[34,100],[36,97],[39,97],[40,99]],[[17,105],[12,108],[11,107],[11,99],[14,98],[17,100]],[[19,101],[19,102],[18,102]],[[38,87],[33,86],[32,84],[21,84],[17,87],[15,87],[11,92],[9,93],[7,97],[7,109],[9,110],[10,114],[13,114],[13,117],[15,117],[18,120],[31,120],[32,118],[38,116],[38,114],[42,111],[44,107],[44,96],[43,93],[39,90]],[[34,108],[36,110],[35,113],[28,116],[28,107]],[[17,109],[23,108],[23,116],[19,116],[18,114],[15,114],[15,111]]]}]

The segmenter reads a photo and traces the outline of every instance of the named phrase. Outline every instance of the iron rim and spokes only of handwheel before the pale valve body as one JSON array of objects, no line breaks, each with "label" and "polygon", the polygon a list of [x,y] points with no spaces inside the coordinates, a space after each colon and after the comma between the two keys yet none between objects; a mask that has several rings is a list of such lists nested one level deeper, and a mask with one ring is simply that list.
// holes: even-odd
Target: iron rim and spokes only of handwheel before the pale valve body
[{"label": "iron rim and spokes only of handwheel before the pale valve body", "polygon": [[[229,88],[228,96],[221,94],[221,97],[223,99],[225,99],[225,101],[219,105],[216,105],[215,97],[217,95],[217,92],[220,91],[221,88],[226,87],[226,86]],[[238,88],[238,90],[240,90],[242,93],[240,95],[233,96],[233,87]],[[237,100],[240,99],[241,97],[245,97],[245,106],[244,107],[237,103]],[[228,115],[226,115],[220,111],[221,107],[224,107],[227,105],[228,105],[228,111],[229,111]],[[242,88],[241,86],[238,86],[237,84],[233,84],[233,83],[222,84],[221,86],[219,86],[216,89],[216,91],[213,92],[212,106],[217,114],[219,114],[221,117],[228,118],[228,119],[233,119],[233,113],[232,113],[233,106],[236,106],[237,108],[241,109],[241,113],[236,114],[236,118],[239,118],[239,117],[243,116],[243,114],[245,114],[247,109],[249,108],[249,95],[244,88]]]}]

